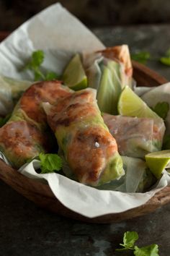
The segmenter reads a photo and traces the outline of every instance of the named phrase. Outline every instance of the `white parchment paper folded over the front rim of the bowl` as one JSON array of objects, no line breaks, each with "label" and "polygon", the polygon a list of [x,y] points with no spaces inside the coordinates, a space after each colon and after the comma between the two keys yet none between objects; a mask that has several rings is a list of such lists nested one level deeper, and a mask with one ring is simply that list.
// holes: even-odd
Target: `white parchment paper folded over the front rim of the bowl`
[{"label": "white parchment paper folded over the front rim of the bowl", "polygon": [[89,218],[108,213],[121,213],[130,208],[143,205],[156,192],[170,184],[170,177],[164,171],[164,175],[156,188],[151,192],[122,193],[88,187],[60,174],[37,174],[35,170],[39,167],[40,161],[33,160],[31,163],[22,166],[19,172],[33,179],[46,179],[50,189],[63,205]]}]

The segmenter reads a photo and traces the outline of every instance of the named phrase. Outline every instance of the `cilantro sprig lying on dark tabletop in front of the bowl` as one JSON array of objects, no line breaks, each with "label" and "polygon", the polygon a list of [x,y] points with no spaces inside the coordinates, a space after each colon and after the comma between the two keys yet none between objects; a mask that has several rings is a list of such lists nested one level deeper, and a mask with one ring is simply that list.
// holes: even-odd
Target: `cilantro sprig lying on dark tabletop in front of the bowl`
[{"label": "cilantro sprig lying on dark tabletop in front of the bowl", "polygon": [[135,242],[138,240],[138,233],[135,231],[127,231],[123,236],[123,244],[120,244],[122,248],[116,249],[121,252],[124,250],[133,250],[135,256],[159,256],[158,244],[151,244],[146,247],[138,247]]}]

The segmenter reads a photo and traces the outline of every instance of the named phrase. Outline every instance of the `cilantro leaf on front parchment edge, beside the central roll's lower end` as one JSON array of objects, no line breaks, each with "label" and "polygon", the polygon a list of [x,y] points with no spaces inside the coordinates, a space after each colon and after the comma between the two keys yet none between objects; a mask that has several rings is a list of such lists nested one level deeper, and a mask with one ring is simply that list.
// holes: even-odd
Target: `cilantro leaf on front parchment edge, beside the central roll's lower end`
[{"label": "cilantro leaf on front parchment edge, beside the central roll's lower end", "polygon": [[41,174],[52,173],[60,171],[62,168],[62,159],[57,154],[40,153]]}]

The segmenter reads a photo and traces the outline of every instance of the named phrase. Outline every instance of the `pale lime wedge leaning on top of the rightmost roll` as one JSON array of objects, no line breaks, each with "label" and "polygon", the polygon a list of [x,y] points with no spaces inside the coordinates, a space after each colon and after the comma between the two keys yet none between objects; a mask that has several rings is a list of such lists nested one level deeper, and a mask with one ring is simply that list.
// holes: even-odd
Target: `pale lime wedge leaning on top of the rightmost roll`
[{"label": "pale lime wedge leaning on top of the rightmost roll", "polygon": [[125,86],[124,90],[122,90],[117,109],[122,116],[160,118],[128,86]]}]

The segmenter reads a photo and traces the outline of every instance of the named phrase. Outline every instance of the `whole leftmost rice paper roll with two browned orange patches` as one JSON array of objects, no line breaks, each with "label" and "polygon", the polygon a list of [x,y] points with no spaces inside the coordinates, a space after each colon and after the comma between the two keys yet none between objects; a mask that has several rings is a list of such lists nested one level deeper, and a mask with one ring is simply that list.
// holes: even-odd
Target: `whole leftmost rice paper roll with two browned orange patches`
[{"label": "whole leftmost rice paper roll with two browned orange patches", "polygon": [[13,167],[19,168],[40,153],[47,153],[53,143],[43,102],[54,103],[71,90],[61,82],[39,82],[22,95],[9,121],[0,129],[0,150]]}]

